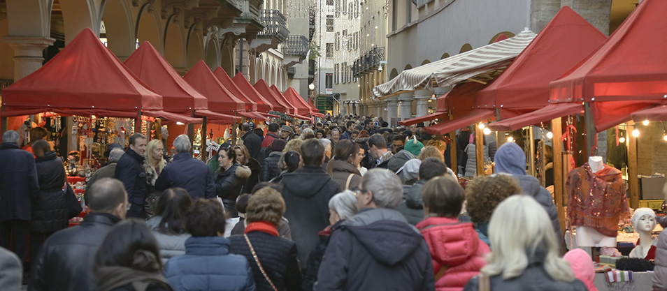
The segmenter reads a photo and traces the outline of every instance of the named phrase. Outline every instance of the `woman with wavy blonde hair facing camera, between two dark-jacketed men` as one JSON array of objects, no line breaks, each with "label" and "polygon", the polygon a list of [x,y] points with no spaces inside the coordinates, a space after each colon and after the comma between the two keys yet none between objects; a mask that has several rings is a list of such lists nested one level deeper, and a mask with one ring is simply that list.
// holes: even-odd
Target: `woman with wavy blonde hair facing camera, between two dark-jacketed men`
[{"label": "woman with wavy blonde hair facing camera, between two dark-jacketed men", "polygon": [[152,217],[155,212],[155,202],[160,197],[159,191],[155,188],[155,181],[159,177],[162,169],[166,166],[164,161],[164,146],[160,140],[151,140],[146,146],[145,161],[143,168],[146,171],[146,181],[148,188],[146,188],[146,197],[144,200],[144,207],[148,217]]}]

